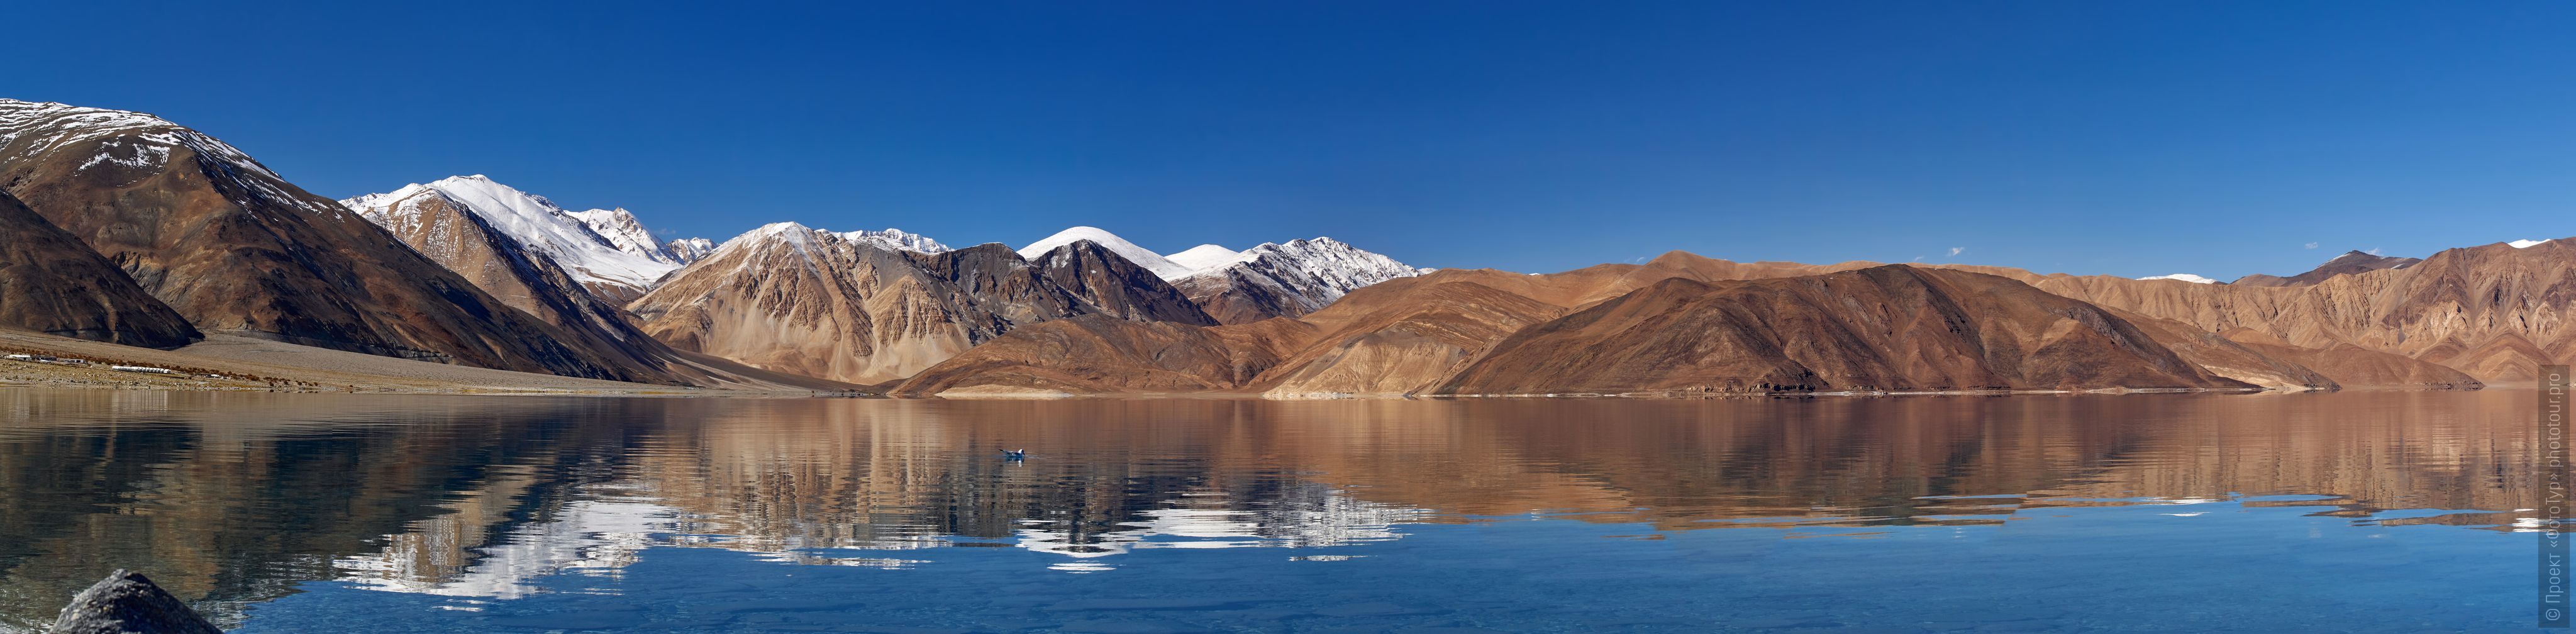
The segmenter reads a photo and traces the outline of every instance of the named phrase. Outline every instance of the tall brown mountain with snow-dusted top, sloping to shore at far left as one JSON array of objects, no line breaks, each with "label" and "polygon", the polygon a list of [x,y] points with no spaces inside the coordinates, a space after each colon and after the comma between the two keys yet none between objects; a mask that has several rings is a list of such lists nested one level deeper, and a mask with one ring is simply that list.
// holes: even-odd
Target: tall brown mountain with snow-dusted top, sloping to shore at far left
[{"label": "tall brown mountain with snow-dusted top, sloping to shore at far left", "polygon": [[147,113],[0,101],[0,183],[198,330],[670,381],[510,309],[232,144]]}]

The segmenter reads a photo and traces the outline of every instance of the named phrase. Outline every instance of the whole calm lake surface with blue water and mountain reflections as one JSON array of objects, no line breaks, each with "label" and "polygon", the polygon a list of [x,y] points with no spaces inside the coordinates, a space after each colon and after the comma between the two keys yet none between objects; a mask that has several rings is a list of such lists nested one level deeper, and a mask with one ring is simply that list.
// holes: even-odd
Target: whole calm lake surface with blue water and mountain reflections
[{"label": "whole calm lake surface with blue water and mountain reflections", "polygon": [[0,631],[2519,631],[2530,415],[0,392]]}]

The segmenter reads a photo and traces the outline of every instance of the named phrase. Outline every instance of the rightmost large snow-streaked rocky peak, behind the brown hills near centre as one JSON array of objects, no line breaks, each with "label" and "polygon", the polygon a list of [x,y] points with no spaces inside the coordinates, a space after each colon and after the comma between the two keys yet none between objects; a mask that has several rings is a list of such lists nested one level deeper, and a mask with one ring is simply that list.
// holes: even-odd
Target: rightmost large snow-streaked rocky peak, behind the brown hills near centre
[{"label": "rightmost large snow-streaked rocky peak, behind the brown hills near centre", "polygon": [[1309,314],[1360,286],[1430,273],[1332,237],[1265,242],[1242,253],[1198,245],[1167,260],[1195,271],[1175,283],[1229,325]]}]

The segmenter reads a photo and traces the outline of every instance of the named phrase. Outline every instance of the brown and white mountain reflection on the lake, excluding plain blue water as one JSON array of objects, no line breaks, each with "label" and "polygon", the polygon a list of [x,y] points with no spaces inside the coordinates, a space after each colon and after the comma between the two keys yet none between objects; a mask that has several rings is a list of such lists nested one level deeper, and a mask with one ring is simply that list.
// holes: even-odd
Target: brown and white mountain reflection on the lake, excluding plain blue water
[{"label": "brown and white mountain reflection on the lake, excluding plain blue water", "polygon": [[0,407],[0,631],[41,629],[111,567],[232,626],[309,580],[520,598],[549,575],[623,575],[659,546],[894,570],[920,564],[909,549],[999,546],[1097,572],[1139,549],[1365,557],[1417,523],[1533,515],[1868,536],[2081,505],[2187,518],[2228,500],[2354,526],[2517,531],[2514,510],[2537,500],[2530,392],[894,402],[5,389]]}]

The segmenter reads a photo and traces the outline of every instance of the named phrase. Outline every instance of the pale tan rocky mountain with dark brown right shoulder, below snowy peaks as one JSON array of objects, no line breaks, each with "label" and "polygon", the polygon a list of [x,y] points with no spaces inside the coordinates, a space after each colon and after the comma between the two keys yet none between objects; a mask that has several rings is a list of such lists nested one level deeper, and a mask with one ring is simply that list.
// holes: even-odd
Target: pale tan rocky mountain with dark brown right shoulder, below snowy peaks
[{"label": "pale tan rocky mountain with dark brown right shoulder, below snowy peaks", "polygon": [[858,384],[1077,314],[1213,325],[1170,283],[1103,255],[1079,242],[1041,263],[1002,245],[904,253],[781,222],[724,242],[629,309],[683,351]]}]

